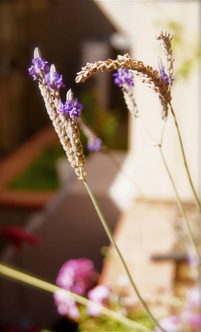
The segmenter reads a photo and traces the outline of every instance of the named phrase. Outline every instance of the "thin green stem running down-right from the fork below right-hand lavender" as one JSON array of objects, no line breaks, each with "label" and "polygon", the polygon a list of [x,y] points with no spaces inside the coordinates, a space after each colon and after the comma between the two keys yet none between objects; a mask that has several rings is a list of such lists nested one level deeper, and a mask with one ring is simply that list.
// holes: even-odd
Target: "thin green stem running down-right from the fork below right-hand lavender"
[{"label": "thin green stem running down-right from the fork below right-hand lavender", "polygon": [[173,188],[174,188],[174,191],[175,191],[175,194],[176,194],[176,198],[177,198],[177,202],[178,202],[178,206],[179,206],[180,212],[181,212],[181,214],[183,215],[183,218],[184,218],[184,220],[185,220],[185,224],[186,224],[186,228],[187,228],[187,232],[188,232],[189,239],[190,239],[190,241],[191,241],[191,244],[192,244],[193,247],[195,248],[195,251],[196,251],[196,253],[197,253],[198,257],[199,257],[199,260],[201,261],[200,253],[199,253],[199,251],[198,251],[198,249],[197,249],[197,245],[196,245],[195,239],[194,239],[193,234],[192,234],[192,232],[191,232],[191,228],[190,228],[190,225],[189,225],[189,222],[188,222],[188,219],[187,219],[187,216],[186,216],[186,213],[185,213],[185,210],[184,210],[183,204],[182,204],[182,202],[181,202],[181,200],[180,200],[179,194],[178,194],[177,189],[176,189],[176,186],[175,186],[175,184],[174,184],[174,180],[173,180],[173,178],[172,178],[172,176],[171,176],[170,170],[169,170],[169,168],[168,168],[168,166],[167,166],[167,163],[166,163],[165,157],[164,157],[164,155],[163,155],[163,153],[162,153],[162,150],[161,150],[161,147],[160,147],[160,146],[159,146],[159,150],[160,150],[161,157],[162,157],[162,159],[163,159],[163,163],[164,163],[165,168],[166,168],[166,170],[167,170],[167,173],[168,173],[168,175],[169,175],[170,181],[171,181],[172,186],[173,186]]}]

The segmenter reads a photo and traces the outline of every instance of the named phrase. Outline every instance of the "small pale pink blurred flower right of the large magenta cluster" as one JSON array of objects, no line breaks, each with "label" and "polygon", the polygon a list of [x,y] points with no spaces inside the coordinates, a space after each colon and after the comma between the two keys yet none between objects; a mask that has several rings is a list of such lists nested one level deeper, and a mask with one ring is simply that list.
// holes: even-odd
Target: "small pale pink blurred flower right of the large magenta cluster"
[{"label": "small pale pink blurred flower right of the large magenta cluster", "polygon": [[94,302],[86,307],[86,310],[90,316],[97,317],[100,315],[100,305],[105,302],[105,300],[109,297],[109,294],[110,290],[104,285],[96,286],[88,292],[87,297]]}]

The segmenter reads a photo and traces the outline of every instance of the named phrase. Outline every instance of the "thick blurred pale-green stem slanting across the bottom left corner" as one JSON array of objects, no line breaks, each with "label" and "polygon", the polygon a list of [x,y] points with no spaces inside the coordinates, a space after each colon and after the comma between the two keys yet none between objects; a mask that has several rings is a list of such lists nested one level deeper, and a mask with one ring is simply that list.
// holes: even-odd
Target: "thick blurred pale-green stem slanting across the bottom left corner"
[{"label": "thick blurred pale-green stem slanting across the bottom left corner", "polygon": [[[60,288],[60,287],[58,287],[56,285],[53,285],[53,284],[50,284],[46,281],[43,281],[43,280],[40,280],[38,278],[29,276],[25,273],[22,273],[20,271],[14,270],[14,269],[11,269],[11,268],[9,268],[5,265],[2,265],[2,264],[0,264],[0,267],[1,267],[1,274],[3,274],[4,276],[13,278],[15,280],[18,280],[18,281],[21,281],[23,283],[38,287],[38,288],[43,289],[43,290],[47,290],[51,293],[55,293],[58,290],[63,290],[67,293],[67,295],[69,295],[76,302],[78,302],[80,304],[83,304],[85,306],[87,306],[89,304],[91,304],[91,305],[94,304],[93,301],[88,300],[86,297],[75,294],[75,293],[70,292],[68,290],[64,290],[63,288]],[[138,329],[140,329],[140,331],[151,331],[148,327],[146,327],[146,326],[144,326],[140,323],[137,323],[137,322],[121,315],[118,312],[107,309],[107,308],[105,308],[101,305],[100,305],[100,310],[101,310],[102,314],[123,323],[124,325],[126,325],[129,328],[132,328],[132,331],[133,331],[133,329],[135,329],[136,331],[138,331]]]}]

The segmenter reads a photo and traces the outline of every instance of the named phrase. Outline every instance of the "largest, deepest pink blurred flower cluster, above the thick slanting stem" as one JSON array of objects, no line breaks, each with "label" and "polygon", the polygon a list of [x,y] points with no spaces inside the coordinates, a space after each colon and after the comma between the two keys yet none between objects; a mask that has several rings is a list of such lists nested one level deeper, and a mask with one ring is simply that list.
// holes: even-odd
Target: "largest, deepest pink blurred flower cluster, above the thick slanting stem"
[{"label": "largest, deepest pink blurred flower cluster, above the thick slanting stem", "polygon": [[94,286],[97,277],[98,273],[90,259],[71,259],[61,267],[56,284],[82,295]]}]

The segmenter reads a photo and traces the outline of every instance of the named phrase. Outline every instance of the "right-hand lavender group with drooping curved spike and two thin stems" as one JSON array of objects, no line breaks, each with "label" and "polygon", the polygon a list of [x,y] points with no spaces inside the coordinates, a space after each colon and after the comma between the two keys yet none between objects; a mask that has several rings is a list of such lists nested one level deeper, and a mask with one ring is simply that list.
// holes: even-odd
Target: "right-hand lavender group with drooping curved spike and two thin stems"
[{"label": "right-hand lavender group with drooping curved spike and two thin stems", "polygon": [[[151,88],[152,91],[156,92],[159,96],[159,101],[161,104],[161,118],[162,118],[162,132],[161,137],[158,141],[154,142],[154,145],[159,149],[160,155],[162,157],[162,160],[164,162],[165,168],[167,170],[167,173],[169,175],[170,181],[172,183],[172,186],[174,188],[177,202],[179,209],[181,211],[181,214],[184,218],[187,232],[189,235],[190,242],[192,246],[194,247],[194,250],[197,253],[197,256],[200,260],[200,253],[197,248],[196,241],[194,239],[194,236],[192,234],[190,224],[185,212],[185,209],[183,207],[183,204],[181,202],[181,199],[179,197],[177,188],[175,186],[175,183],[173,181],[172,175],[170,173],[170,170],[168,168],[167,162],[165,160],[164,154],[162,152],[162,138],[163,138],[163,132],[164,132],[164,125],[167,120],[168,116],[168,107],[171,109],[171,113],[174,118],[174,123],[177,128],[177,133],[179,137],[179,142],[181,146],[181,151],[184,159],[184,165],[185,169],[188,175],[189,183],[195,198],[195,202],[200,210],[200,202],[198,199],[198,196],[196,194],[195,188],[193,186],[189,168],[187,166],[187,161],[184,153],[184,148],[181,140],[181,135],[178,127],[178,123],[176,120],[176,116],[174,113],[174,110],[171,105],[171,85],[174,78],[172,77],[173,74],[173,61],[172,58],[172,50],[171,50],[171,40],[173,36],[170,37],[170,34],[164,30],[164,32],[160,31],[159,34],[156,35],[156,39],[161,41],[161,46],[164,53],[164,65],[162,65],[162,61],[160,58],[158,58],[158,69],[153,70],[150,66],[145,66],[142,61],[137,61],[136,59],[131,59],[129,54],[124,54],[124,56],[118,55],[116,60],[107,59],[105,61],[96,61],[95,63],[87,63],[85,67],[82,67],[82,70],[77,73],[76,82],[85,82],[86,79],[88,79],[92,74],[95,74],[99,71],[103,72],[105,70],[112,71],[117,70],[117,73],[114,74],[115,79],[114,83],[117,84],[123,93],[123,97],[126,103],[126,106],[128,108],[128,111],[131,113],[132,116],[140,120],[141,124],[143,125],[144,129],[148,133],[149,137],[152,139],[149,131],[145,127],[145,125],[142,123],[139,112],[137,111],[137,106],[135,103],[133,92],[131,91],[131,87],[134,85],[132,80],[133,77],[138,77],[144,84],[146,84],[149,88]],[[153,142],[153,139],[152,139]]]}]

